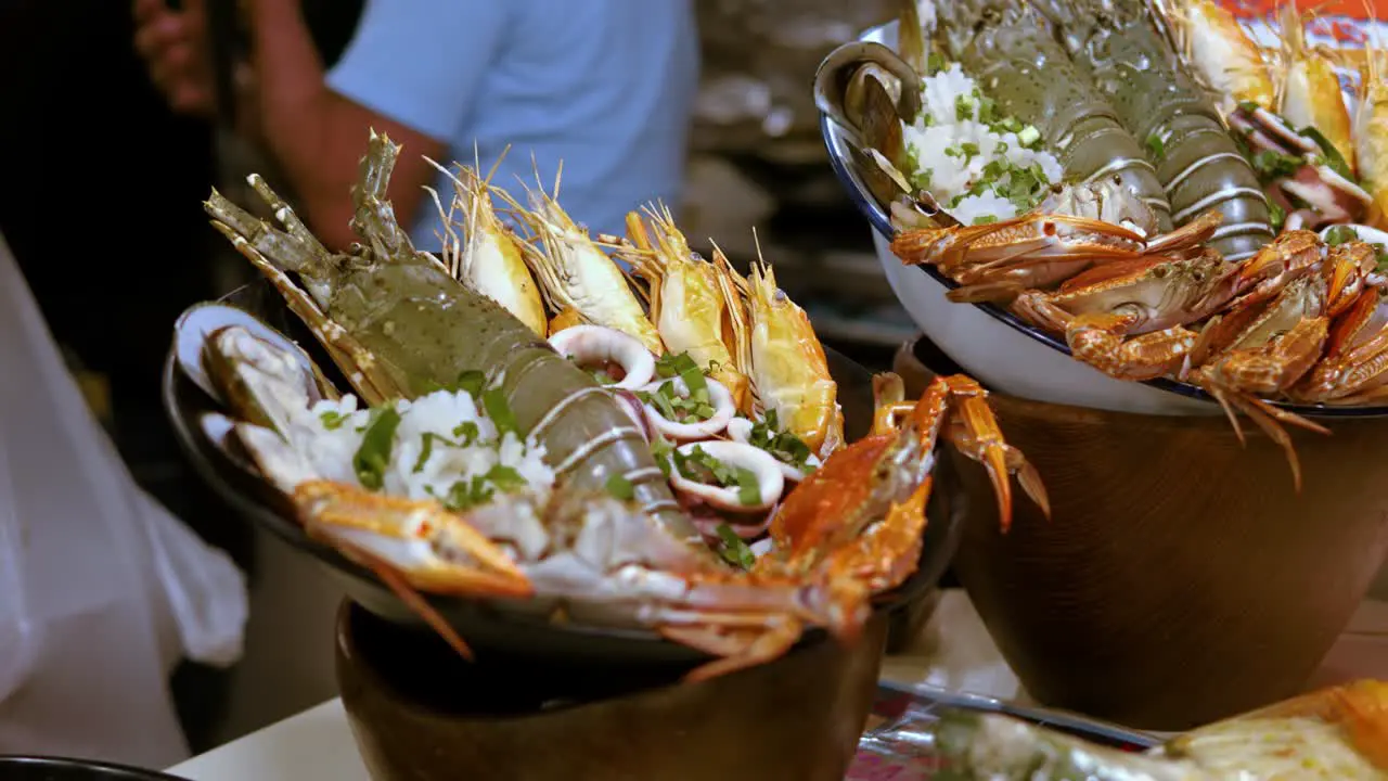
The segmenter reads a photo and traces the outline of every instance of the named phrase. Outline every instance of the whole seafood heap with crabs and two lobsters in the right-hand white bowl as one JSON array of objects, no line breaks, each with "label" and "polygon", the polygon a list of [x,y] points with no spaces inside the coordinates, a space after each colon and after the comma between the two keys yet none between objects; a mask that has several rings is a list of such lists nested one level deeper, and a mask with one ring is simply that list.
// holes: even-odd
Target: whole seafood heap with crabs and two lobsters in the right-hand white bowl
[{"label": "whole seafood heap with crabs and two lobsters in the right-hand white bowl", "polygon": [[[1263,47],[1210,0],[902,0],[822,111],[897,228],[892,252],[1120,379],[1249,416],[1388,399],[1382,53]],[[1352,100],[1341,78],[1353,83]],[[1299,479],[1299,475],[1298,475]]]}]

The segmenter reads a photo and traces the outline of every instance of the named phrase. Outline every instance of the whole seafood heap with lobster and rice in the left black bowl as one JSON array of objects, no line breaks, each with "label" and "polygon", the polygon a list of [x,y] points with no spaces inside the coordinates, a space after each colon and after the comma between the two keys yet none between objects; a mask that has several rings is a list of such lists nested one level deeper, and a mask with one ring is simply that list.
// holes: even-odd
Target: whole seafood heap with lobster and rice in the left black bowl
[{"label": "whole seafood heap with lobster and rice in the left black bowl", "polygon": [[246,313],[207,329],[185,371],[228,410],[204,427],[229,432],[307,534],[459,653],[421,592],[651,627],[718,657],[695,680],[775,659],[806,627],[851,639],[917,566],[941,436],[988,470],[1004,527],[1013,474],[1048,509],[966,377],[917,402],[876,377],[872,435],[844,443],[823,349],[772,271],[693,256],[662,210],[605,238],[609,253],[543,188],[522,206],[459,167],[452,206],[439,199],[447,249],[418,252],[383,195],[398,153],[372,133],[347,253],[260,176],[279,227],[215,190],[204,204],[355,395]]}]

